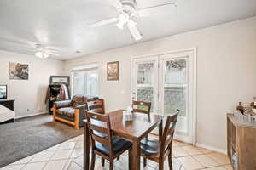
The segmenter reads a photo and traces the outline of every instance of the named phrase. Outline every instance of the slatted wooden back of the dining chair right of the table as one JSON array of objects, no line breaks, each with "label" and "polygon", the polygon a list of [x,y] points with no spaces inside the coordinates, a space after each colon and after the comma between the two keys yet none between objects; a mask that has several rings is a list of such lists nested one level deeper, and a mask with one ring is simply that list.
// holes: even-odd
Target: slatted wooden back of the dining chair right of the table
[{"label": "slatted wooden back of the dining chair right of the table", "polygon": [[172,139],[175,132],[175,126],[179,112],[180,111],[177,110],[174,115],[167,116],[166,126],[160,144],[160,156],[163,156],[166,150],[172,148]]}]

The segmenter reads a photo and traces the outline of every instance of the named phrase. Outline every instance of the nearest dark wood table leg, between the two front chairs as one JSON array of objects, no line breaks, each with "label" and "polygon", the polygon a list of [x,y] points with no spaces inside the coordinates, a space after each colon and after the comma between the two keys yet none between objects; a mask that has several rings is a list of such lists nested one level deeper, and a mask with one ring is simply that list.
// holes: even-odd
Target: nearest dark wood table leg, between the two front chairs
[{"label": "nearest dark wood table leg, between the two front chairs", "polygon": [[140,169],[141,146],[140,141],[133,140],[132,142],[132,170]]}]

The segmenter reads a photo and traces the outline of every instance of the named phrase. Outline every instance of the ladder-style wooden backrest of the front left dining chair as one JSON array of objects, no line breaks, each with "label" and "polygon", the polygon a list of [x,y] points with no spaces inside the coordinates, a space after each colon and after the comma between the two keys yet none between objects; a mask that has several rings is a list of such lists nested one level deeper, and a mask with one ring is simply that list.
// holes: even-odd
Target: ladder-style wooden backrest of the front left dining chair
[{"label": "ladder-style wooden backrest of the front left dining chair", "polygon": [[109,154],[112,156],[113,141],[109,116],[90,111],[86,112],[86,116],[92,149],[94,150],[96,148],[96,142],[101,143],[109,147]]}]

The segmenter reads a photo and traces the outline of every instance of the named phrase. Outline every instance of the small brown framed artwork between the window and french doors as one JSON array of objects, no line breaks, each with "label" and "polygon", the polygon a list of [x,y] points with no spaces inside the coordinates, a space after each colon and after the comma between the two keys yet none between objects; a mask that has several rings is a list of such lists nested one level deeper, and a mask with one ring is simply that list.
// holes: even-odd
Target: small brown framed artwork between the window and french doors
[{"label": "small brown framed artwork between the window and french doors", "polygon": [[108,69],[107,71],[108,81],[119,80],[119,61],[108,62],[107,69]]}]

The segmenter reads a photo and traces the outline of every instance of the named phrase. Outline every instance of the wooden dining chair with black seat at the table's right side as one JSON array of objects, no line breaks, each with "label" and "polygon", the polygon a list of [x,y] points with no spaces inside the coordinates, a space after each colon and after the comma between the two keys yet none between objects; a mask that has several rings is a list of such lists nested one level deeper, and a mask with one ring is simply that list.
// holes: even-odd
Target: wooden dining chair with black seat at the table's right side
[{"label": "wooden dining chair with black seat at the table's right side", "polygon": [[146,167],[147,159],[159,163],[159,170],[164,169],[164,161],[168,156],[169,169],[172,170],[172,139],[175,131],[179,110],[173,116],[167,116],[161,141],[157,139],[144,138],[141,142],[141,156],[143,165]]}]

